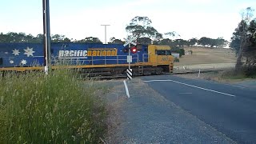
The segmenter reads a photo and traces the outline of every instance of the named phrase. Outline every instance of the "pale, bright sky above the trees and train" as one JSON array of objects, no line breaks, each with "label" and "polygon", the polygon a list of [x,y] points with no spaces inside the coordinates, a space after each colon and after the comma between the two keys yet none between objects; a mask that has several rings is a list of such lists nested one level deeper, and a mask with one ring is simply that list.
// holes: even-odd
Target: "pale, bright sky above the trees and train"
[{"label": "pale, bright sky above the trees and train", "polygon": [[[127,38],[126,26],[136,16],[148,17],[159,33],[179,38],[228,41],[247,7],[255,0],[49,0],[50,34],[67,38]],[[255,18],[254,11],[254,18]],[[0,32],[42,34],[42,0],[0,0]]]}]

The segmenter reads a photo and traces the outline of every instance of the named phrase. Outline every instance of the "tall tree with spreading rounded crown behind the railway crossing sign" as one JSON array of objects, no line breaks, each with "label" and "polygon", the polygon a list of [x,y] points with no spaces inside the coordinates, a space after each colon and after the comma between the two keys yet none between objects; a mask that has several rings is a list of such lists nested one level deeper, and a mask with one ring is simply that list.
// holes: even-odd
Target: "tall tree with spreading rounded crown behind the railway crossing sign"
[{"label": "tall tree with spreading rounded crown behind the railway crossing sign", "polygon": [[130,24],[126,26],[126,31],[136,38],[162,38],[162,34],[158,33],[151,23],[150,18],[137,16],[131,19]]}]

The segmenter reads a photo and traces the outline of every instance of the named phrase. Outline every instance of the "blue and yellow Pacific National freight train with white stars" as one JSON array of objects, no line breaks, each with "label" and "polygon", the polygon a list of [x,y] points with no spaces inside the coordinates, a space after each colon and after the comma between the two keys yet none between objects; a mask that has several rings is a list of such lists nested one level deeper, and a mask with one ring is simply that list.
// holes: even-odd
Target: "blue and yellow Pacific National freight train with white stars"
[{"label": "blue and yellow Pacific National freight train with white stars", "polygon": [[[51,43],[51,68],[79,69],[92,75],[122,75],[128,46],[122,44]],[[172,73],[170,46],[137,45],[131,53],[133,75]],[[66,62],[63,66],[60,63]],[[0,71],[44,70],[44,49],[36,43],[0,43]]]}]

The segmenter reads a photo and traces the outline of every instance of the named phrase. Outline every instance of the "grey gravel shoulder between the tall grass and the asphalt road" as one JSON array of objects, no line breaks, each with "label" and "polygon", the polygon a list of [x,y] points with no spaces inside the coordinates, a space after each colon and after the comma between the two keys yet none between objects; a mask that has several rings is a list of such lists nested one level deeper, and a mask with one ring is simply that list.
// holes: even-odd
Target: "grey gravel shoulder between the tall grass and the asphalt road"
[{"label": "grey gravel shoulder between the tall grass and the asphalt road", "polygon": [[107,143],[235,143],[186,110],[152,90],[139,78],[122,81],[106,95],[109,103]]}]

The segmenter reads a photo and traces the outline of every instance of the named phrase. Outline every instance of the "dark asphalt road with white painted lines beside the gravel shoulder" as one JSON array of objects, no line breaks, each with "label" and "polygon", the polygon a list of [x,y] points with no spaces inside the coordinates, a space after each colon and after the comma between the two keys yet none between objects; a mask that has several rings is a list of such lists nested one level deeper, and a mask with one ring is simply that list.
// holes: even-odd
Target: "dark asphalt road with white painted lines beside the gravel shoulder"
[{"label": "dark asphalt road with white painted lines beside the gravel shoulder", "polygon": [[[167,101],[174,102],[182,110],[234,142],[256,143],[255,89],[171,75],[141,79]],[[194,121],[193,118],[187,119],[188,122],[190,120]]]}]

